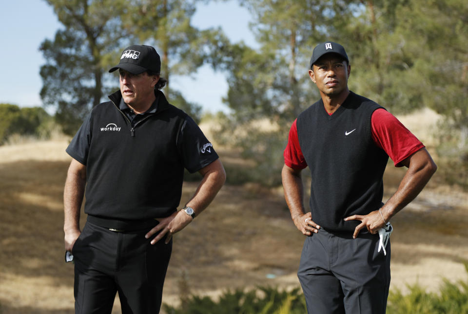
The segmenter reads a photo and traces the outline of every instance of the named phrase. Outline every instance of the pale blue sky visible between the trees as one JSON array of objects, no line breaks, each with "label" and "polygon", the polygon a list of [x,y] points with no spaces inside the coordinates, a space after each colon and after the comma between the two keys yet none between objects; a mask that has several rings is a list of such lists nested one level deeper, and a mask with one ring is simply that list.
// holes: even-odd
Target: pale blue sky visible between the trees
[{"label": "pale blue sky visible between the trees", "polygon": [[[43,0],[2,0],[1,7],[0,45],[4,64],[0,103],[41,106],[39,68],[45,60],[39,45],[45,38],[52,39],[61,24]],[[198,28],[220,26],[231,41],[244,40],[255,46],[249,21],[248,11],[230,0],[199,4],[192,24]],[[171,87],[182,92],[188,101],[200,104],[204,111],[227,111],[221,101],[227,92],[226,78],[208,66],[200,68],[194,77],[172,76]]]}]

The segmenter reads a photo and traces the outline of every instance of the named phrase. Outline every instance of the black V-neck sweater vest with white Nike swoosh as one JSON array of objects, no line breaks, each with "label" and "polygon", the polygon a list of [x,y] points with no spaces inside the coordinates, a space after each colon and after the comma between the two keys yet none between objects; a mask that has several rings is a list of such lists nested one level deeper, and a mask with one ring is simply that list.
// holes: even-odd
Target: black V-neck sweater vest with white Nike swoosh
[{"label": "black V-neck sweater vest with white Nike swoosh", "polygon": [[331,232],[352,231],[382,205],[388,155],[372,140],[372,112],[383,108],[353,92],[329,115],[319,100],[297,118],[302,153],[312,174],[312,220]]}]

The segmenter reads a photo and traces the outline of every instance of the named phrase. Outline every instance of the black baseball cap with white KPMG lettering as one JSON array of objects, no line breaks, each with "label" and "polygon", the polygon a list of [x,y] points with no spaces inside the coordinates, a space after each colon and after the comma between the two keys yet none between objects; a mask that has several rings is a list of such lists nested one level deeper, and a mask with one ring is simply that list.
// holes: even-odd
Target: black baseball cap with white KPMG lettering
[{"label": "black baseball cap with white KPMG lettering", "polygon": [[120,56],[120,62],[109,72],[114,72],[117,69],[123,69],[132,74],[140,74],[148,70],[159,74],[161,72],[161,58],[156,49],[151,46],[132,45],[125,48]]}]

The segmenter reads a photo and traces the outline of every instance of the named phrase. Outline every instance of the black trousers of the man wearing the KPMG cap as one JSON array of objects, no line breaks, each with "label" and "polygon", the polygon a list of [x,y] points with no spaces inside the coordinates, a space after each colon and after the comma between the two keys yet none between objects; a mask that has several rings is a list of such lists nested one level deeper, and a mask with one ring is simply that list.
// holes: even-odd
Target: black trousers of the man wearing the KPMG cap
[{"label": "black trousers of the man wearing the KPMG cap", "polygon": [[86,222],[73,246],[76,314],[110,314],[117,293],[122,314],[159,313],[172,240],[152,245],[149,230],[116,232]]}]

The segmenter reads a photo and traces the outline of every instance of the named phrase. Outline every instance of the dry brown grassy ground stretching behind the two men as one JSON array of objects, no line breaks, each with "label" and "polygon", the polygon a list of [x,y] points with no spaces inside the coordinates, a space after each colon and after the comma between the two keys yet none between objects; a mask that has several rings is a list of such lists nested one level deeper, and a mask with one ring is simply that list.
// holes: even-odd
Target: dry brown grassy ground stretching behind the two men
[{"label": "dry brown grassy ground stretching behind the two men", "polygon": [[[2,314],[73,312],[73,266],[63,257],[66,145],[49,141],[0,147]],[[223,154],[235,159],[228,151],[218,152],[221,159]],[[386,191],[394,191],[403,175],[404,169],[390,165]],[[463,265],[468,260],[468,194],[438,182],[436,174],[392,219],[390,289],[405,291],[407,284],[419,283],[437,291],[443,278],[468,278]],[[181,203],[195,188],[194,182],[184,183]],[[237,287],[297,287],[303,241],[282,188],[225,185],[211,206],[175,236],[163,302],[177,304],[181,286],[214,297]],[[114,309],[120,313],[118,299]]]}]

